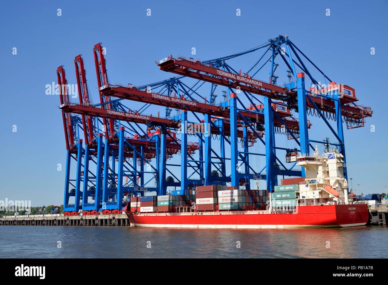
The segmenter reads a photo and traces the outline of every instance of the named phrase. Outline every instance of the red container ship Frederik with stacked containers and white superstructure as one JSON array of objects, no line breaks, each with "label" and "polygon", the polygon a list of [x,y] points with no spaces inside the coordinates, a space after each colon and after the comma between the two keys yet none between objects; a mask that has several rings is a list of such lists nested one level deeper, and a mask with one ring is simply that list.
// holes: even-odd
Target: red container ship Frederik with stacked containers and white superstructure
[{"label": "red container ship Frederik with stacked containers and white superstructure", "polygon": [[[329,152],[330,151],[330,152]],[[305,177],[282,179],[274,191],[206,185],[185,195],[131,197],[124,211],[132,227],[322,228],[365,225],[367,204],[349,199],[338,149],[293,156]]]}]

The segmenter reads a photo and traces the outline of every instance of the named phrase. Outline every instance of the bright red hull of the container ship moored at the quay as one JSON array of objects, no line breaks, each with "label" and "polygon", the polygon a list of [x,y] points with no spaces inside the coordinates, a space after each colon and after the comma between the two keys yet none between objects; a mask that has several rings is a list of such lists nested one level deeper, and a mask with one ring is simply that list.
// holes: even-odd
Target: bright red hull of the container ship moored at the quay
[{"label": "bright red hull of the container ship moored at the quay", "polygon": [[132,227],[156,228],[320,228],[355,227],[369,219],[368,206],[324,205],[299,206],[295,213],[268,211],[131,213],[126,211]]}]

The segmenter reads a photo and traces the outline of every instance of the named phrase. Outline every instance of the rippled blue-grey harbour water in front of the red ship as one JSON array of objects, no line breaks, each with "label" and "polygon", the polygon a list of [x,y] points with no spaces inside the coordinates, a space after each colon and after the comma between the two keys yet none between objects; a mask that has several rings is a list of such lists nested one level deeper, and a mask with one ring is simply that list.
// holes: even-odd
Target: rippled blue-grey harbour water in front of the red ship
[{"label": "rippled blue-grey harbour water in front of the red ship", "polygon": [[[387,240],[388,228],[385,226],[293,230],[0,226],[0,256],[386,258]],[[61,241],[62,248],[57,248],[58,241]],[[147,248],[147,242],[151,242],[151,248]],[[241,248],[236,247],[237,242]]]}]

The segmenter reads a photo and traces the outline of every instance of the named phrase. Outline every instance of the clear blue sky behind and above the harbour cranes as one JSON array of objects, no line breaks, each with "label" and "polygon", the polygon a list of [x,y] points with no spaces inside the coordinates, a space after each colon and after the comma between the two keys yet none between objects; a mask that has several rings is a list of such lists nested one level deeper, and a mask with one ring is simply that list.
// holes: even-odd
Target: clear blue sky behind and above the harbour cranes
[{"label": "clear blue sky behind and above the harbour cranes", "polygon": [[[364,194],[383,192],[388,185],[387,8],[387,1],[381,0],[4,2],[0,10],[0,200],[31,200],[33,206],[63,203],[65,173],[57,171],[57,164],[64,170],[66,149],[59,98],[46,95],[45,86],[56,82],[59,65],[65,66],[69,83],[75,83],[73,60],[83,54],[96,102],[95,43],[107,48],[112,83],[143,85],[173,76],[154,62],[167,55],[193,57],[195,47],[194,57],[217,58],[261,45],[278,34],[288,34],[332,80],[353,86],[359,103],[372,107],[373,117],[364,128],[345,129],[348,173],[356,190],[360,184]],[[236,9],[241,9],[241,16]],[[244,71],[257,56],[234,61],[233,66]],[[268,70],[256,77],[268,80]],[[284,70],[279,70],[281,82],[286,78]],[[323,139],[324,122],[312,122],[310,137]],[[13,125],[17,132],[12,131]]]}]

